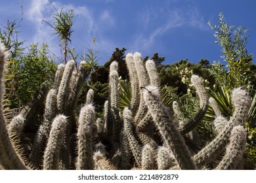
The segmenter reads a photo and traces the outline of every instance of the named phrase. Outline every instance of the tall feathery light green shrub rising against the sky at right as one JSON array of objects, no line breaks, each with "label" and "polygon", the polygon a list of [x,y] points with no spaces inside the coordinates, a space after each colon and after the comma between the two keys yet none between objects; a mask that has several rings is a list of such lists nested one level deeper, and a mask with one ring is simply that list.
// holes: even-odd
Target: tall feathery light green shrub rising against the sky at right
[{"label": "tall feathery light green shrub rising against the sky at right", "polygon": [[251,71],[253,59],[246,48],[248,29],[240,26],[233,31],[234,25],[226,23],[223,13],[219,14],[219,25],[209,22],[209,26],[215,31],[214,36],[217,38],[215,42],[222,48],[223,56],[221,58],[228,64],[226,65],[228,71],[224,71],[220,64],[215,65],[219,66],[219,68],[215,68],[215,71],[218,69],[221,71],[216,73],[218,84],[224,84],[231,90],[241,86],[251,90],[253,87],[251,79],[253,76],[255,77],[255,73]]}]

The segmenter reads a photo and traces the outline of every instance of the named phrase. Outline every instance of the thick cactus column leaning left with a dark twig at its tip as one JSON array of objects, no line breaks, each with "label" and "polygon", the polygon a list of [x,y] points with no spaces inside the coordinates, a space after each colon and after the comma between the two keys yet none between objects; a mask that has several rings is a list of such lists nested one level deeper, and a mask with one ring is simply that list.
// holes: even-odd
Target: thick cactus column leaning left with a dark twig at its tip
[{"label": "thick cactus column leaning left with a dark twig at its tip", "polygon": [[175,155],[181,169],[196,169],[196,165],[192,161],[192,157],[181,133],[176,125],[173,124],[165,107],[163,107],[163,103],[161,103],[158,88],[147,86],[143,90],[143,96],[165,144],[167,144],[170,152],[172,151]]}]

